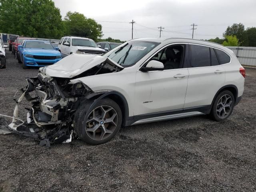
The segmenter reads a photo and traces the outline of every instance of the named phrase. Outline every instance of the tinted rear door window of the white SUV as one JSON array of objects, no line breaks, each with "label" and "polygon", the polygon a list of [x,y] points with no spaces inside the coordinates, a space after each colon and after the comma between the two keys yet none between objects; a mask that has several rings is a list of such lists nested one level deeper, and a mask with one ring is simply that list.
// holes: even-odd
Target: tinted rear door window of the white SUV
[{"label": "tinted rear door window of the white SUV", "polygon": [[189,45],[191,67],[211,66],[210,48],[200,45]]}]

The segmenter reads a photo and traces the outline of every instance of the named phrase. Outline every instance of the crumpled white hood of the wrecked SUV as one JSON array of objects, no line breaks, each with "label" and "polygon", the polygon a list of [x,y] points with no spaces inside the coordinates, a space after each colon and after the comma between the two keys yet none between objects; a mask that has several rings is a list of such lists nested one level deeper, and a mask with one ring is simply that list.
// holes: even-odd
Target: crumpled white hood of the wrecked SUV
[{"label": "crumpled white hood of the wrecked SUV", "polygon": [[102,62],[123,68],[113,60],[98,55],[71,54],[56,64],[40,68],[40,72],[48,77],[72,78]]}]

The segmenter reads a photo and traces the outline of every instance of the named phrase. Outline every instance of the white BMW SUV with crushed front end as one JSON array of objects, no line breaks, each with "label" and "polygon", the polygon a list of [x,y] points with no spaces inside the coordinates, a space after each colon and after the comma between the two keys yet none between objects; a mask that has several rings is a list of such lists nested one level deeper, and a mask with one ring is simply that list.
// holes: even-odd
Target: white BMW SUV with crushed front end
[{"label": "white BMW SUV with crushed front end", "polygon": [[121,126],[204,114],[223,121],[241,100],[244,78],[231,50],[202,40],[141,38],[102,56],[72,54],[27,78],[22,97],[32,108],[22,126],[30,132],[22,134],[47,146],[73,134],[102,144]]}]

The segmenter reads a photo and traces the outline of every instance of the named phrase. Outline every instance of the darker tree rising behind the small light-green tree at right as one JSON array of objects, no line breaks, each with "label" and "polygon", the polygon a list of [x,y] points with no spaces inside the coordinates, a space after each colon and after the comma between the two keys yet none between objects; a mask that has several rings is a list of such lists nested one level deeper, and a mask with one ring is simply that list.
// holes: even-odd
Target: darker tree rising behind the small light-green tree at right
[{"label": "darker tree rising behind the small light-green tree at right", "polygon": [[223,36],[236,36],[240,40],[240,44],[244,42],[244,25],[242,23],[234,23],[232,26],[228,26]]}]

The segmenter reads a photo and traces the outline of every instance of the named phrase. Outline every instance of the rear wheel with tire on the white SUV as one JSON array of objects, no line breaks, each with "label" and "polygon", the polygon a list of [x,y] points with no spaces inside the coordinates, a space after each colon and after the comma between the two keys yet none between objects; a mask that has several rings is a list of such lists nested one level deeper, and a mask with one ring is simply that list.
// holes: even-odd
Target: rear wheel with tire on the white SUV
[{"label": "rear wheel with tire on the white SUV", "polygon": [[224,90],[218,94],[212,105],[210,116],[213,120],[224,121],[234,109],[234,95],[228,90]]}]

